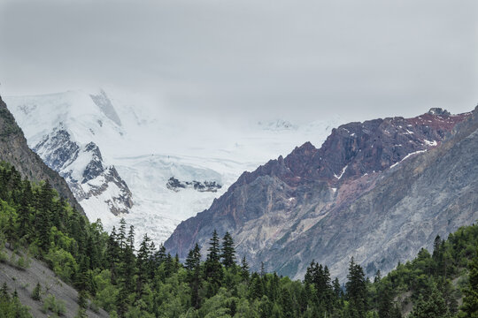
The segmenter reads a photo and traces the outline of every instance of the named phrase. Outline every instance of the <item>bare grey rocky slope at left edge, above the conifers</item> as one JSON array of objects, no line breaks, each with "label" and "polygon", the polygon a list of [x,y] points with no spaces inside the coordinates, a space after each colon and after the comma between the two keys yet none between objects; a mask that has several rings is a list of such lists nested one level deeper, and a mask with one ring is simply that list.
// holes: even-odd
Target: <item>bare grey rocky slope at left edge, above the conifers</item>
[{"label": "bare grey rocky slope at left edge, above the conifers", "polygon": [[58,172],[43,163],[40,156],[28,148],[25,136],[1,97],[0,160],[12,163],[24,178],[35,182],[48,180],[60,196],[66,198],[73,207],[83,212],[83,208],[74,198],[66,181],[59,176]]}]

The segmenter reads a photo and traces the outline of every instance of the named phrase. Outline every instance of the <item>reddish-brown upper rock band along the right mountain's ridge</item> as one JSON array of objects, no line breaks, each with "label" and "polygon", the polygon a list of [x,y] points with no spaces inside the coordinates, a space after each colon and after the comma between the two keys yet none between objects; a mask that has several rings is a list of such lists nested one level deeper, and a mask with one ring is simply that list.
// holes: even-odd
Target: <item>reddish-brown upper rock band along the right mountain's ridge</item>
[{"label": "reddish-brown upper rock band along the right mountain's ridge", "polygon": [[266,175],[281,178],[289,186],[316,180],[336,185],[366,173],[380,172],[408,154],[436,147],[446,133],[470,114],[427,113],[407,119],[393,117],[341,125],[320,149],[305,142],[285,159],[280,156],[254,172],[244,172],[231,188]]}]

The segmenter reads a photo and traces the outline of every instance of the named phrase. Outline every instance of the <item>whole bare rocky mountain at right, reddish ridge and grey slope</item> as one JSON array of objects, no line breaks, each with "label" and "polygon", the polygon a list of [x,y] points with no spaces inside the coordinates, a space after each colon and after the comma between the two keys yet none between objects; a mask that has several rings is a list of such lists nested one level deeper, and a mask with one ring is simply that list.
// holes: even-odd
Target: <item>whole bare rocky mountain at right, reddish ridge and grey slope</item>
[{"label": "whole bare rocky mountain at right, reddish ridge and grey slope", "polygon": [[319,149],[305,143],[244,172],[165,246],[184,257],[216,229],[233,234],[253,269],[264,261],[301,277],[314,259],[343,278],[354,256],[368,275],[386,272],[478,218],[477,112],[341,125]]}]

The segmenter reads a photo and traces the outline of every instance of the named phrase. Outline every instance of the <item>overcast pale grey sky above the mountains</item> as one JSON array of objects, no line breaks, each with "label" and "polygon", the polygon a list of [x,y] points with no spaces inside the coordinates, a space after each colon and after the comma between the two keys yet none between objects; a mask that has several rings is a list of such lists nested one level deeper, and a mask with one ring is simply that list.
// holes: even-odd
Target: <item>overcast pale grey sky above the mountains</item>
[{"label": "overcast pale grey sky above the mountains", "polygon": [[214,118],[478,102],[476,0],[0,0],[0,92],[113,86]]}]

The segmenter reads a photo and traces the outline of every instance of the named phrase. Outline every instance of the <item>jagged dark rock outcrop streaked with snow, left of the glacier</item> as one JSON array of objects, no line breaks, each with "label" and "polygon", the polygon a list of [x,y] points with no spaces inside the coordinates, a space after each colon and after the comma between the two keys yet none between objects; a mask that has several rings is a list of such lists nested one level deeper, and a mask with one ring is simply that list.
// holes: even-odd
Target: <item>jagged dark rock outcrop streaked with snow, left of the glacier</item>
[{"label": "jagged dark rock outcrop streaked with snow, left of the glacier", "polygon": [[81,146],[60,124],[34,148],[43,162],[66,179],[80,202],[96,198],[104,201],[112,214],[128,213],[133,207],[132,193],[112,165],[104,165],[94,142]]}]

